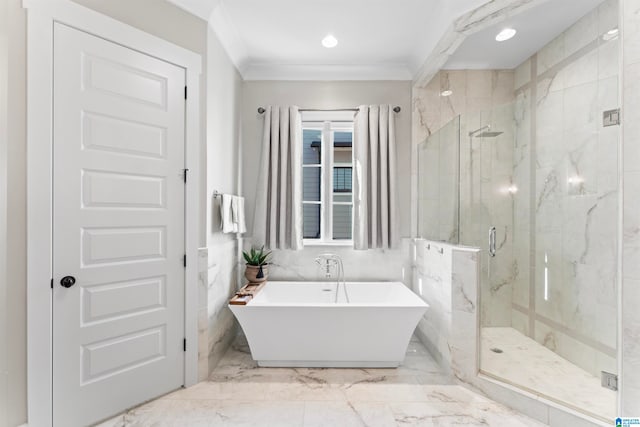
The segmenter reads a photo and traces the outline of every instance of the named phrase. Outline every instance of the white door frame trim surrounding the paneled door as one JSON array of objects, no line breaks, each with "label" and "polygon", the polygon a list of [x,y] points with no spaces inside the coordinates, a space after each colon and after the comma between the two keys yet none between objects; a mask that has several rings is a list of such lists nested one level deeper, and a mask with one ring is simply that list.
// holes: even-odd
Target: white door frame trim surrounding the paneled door
[{"label": "white door frame trim surrounding the paneled door", "polygon": [[[51,426],[53,26],[55,22],[170,62],[186,70],[184,385],[197,382],[197,257],[199,237],[199,54],[123,24],[70,0],[23,0],[27,9],[27,405],[33,426]],[[46,261],[45,261],[46,260]]]}]

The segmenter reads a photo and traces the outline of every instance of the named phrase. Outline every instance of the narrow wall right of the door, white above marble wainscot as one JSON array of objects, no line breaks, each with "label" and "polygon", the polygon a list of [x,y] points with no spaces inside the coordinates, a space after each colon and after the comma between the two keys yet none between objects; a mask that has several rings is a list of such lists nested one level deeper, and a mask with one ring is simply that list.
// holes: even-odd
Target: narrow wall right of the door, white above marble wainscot
[{"label": "narrow wall right of the door, white above marble wainscot", "polygon": [[214,198],[213,194],[242,191],[239,180],[242,78],[211,28],[207,34],[207,70],[207,186],[203,199],[208,248],[207,305],[200,308],[206,313],[199,314],[208,322],[211,371],[236,333],[227,301],[236,290],[240,247],[235,234],[220,231],[220,198]]}]

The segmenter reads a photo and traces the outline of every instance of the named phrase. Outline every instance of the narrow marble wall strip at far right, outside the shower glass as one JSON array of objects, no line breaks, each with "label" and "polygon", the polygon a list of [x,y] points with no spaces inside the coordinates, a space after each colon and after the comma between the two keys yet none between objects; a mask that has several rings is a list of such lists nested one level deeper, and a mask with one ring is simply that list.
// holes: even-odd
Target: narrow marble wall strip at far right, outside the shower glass
[{"label": "narrow marble wall strip at far right, outside the shower glass", "polygon": [[622,16],[622,371],[621,414],[640,402],[640,1],[621,0]]}]

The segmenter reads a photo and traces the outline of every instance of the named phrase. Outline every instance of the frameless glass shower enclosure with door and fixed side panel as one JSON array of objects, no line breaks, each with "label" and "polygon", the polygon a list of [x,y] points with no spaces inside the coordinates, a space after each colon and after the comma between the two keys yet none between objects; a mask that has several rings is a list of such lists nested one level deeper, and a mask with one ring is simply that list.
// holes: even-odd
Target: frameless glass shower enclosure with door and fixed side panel
[{"label": "frameless glass shower enclosure with door and fixed side panel", "polygon": [[563,145],[532,129],[536,108],[529,89],[419,145],[418,231],[481,249],[482,374],[610,421],[618,165],[588,150],[617,153],[618,131]]}]

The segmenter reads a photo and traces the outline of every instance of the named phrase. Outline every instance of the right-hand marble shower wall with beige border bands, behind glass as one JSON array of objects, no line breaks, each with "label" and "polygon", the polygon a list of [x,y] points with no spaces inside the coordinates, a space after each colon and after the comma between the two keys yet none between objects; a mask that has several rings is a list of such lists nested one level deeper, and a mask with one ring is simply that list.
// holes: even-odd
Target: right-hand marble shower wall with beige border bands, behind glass
[{"label": "right-hand marble shower wall with beige border bands, behind glass", "polygon": [[512,326],[594,375],[617,372],[619,127],[602,123],[618,108],[617,11],[585,15],[514,85]]}]

